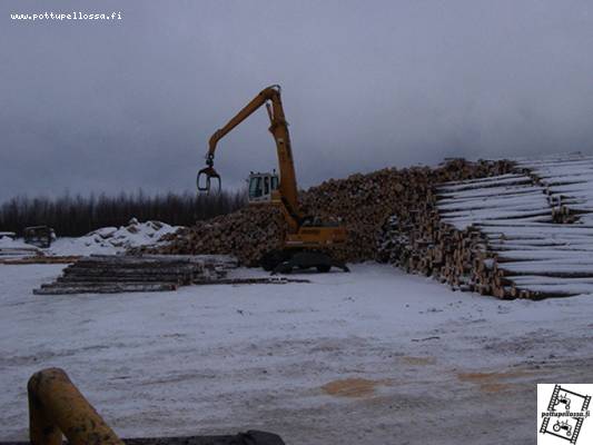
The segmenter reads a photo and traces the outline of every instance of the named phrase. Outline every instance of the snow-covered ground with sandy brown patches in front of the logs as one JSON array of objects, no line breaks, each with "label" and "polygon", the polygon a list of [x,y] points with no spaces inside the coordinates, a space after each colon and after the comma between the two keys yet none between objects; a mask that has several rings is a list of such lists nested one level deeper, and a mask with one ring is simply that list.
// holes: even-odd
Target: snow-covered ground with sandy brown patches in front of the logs
[{"label": "snow-covered ground with sandy brown patches in front of the logs", "polygon": [[532,444],[535,384],[591,383],[591,297],[501,301],[352,269],[48,297],[31,289],[61,266],[0,266],[0,439],[27,438],[27,379],[49,366],[121,436],[259,428],[288,444]]}]

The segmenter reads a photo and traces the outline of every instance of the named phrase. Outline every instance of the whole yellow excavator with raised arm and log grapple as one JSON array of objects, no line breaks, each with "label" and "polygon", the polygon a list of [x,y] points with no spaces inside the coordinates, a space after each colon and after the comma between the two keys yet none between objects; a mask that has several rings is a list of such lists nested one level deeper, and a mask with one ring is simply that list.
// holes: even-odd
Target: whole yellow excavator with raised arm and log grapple
[{"label": "whole yellow excavator with raised arm and log grapple", "polygon": [[307,216],[299,206],[293,149],[279,86],[274,85],[264,89],[210,137],[206,168],[198,171],[198,190],[209,192],[213,179],[218,181],[218,190],[220,190],[220,175],[214,168],[217,144],[263,105],[268,111],[269,131],[276,142],[279,176],[276,172],[249,175],[249,205],[278,206],[288,229],[283,239],[284,248],[266,253],[260,259],[261,267],[274,273],[290,273],[294,268],[310,267],[322,273],[329,271],[332,267],[348,271],[344,263],[330,256],[332,247],[345,243],[346,228],[339,224],[322,222],[317,217]]}]

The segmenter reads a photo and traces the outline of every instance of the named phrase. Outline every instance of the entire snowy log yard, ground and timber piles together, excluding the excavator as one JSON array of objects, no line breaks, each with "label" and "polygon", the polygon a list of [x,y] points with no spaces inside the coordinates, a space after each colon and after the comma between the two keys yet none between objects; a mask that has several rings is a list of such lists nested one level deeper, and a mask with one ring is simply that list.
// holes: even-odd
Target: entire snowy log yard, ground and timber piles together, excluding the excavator
[{"label": "entire snowy log yard, ground and timber piles together, excluding the excavator", "polygon": [[312,187],[304,205],[347,229],[349,273],[259,267],[281,244],[271,205],[47,249],[3,237],[1,429],[26,438],[20,382],[61,366],[123,437],[388,443],[415,427],[436,443],[427,417],[452,441],[468,422],[490,425],[472,442],[512,441],[500,431],[530,429],[535,383],[592,365],[592,171],[581,155],[455,159]]}]

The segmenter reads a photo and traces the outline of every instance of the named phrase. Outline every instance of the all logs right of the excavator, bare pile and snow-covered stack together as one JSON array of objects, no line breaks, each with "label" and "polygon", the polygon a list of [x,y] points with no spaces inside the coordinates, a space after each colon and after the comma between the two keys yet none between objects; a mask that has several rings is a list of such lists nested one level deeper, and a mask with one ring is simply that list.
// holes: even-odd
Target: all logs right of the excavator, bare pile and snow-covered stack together
[{"label": "all logs right of the excavator, bare pile and snow-covered stack together", "polygon": [[[414,174],[406,182],[386,179],[389,170],[355,177],[367,209],[346,188],[342,199],[350,208],[344,220],[359,253],[353,258],[346,247],[350,260],[373,258],[375,249],[376,260],[498,298],[593,294],[593,157],[482,162],[481,168],[454,161],[422,179],[417,169]],[[385,192],[389,186],[397,187],[397,201]],[[328,199],[335,195],[326,192]],[[342,206],[338,199],[322,207],[340,215]],[[372,230],[378,221],[377,238]]]}]

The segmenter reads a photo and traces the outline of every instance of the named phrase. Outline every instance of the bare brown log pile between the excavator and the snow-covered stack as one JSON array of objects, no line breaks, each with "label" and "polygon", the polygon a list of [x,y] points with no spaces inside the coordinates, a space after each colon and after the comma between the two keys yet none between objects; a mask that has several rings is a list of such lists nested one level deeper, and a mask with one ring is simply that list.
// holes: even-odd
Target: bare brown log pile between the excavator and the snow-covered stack
[{"label": "bare brown log pile between the excavator and the snow-covered stack", "polygon": [[[416,270],[438,226],[434,187],[444,181],[501,175],[506,160],[470,162],[452,159],[436,168],[387,168],[329,180],[302,195],[305,208],[324,219],[338,217],[348,241],[336,249],[345,261],[379,260]],[[395,231],[398,239],[386,235]]]}]

